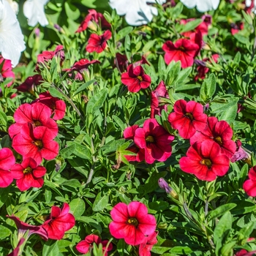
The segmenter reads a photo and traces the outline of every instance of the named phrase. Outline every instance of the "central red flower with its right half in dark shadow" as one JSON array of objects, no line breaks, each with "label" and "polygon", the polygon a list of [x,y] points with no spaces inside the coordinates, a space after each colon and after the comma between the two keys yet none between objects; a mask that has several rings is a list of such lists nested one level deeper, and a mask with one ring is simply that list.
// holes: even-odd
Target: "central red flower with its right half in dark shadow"
[{"label": "central red flower with its right half in dark shadow", "polygon": [[155,160],[164,162],[172,154],[170,143],[174,137],[157,123],[154,118],[147,119],[143,128],[135,130],[135,144],[145,150],[145,161],[152,164]]}]

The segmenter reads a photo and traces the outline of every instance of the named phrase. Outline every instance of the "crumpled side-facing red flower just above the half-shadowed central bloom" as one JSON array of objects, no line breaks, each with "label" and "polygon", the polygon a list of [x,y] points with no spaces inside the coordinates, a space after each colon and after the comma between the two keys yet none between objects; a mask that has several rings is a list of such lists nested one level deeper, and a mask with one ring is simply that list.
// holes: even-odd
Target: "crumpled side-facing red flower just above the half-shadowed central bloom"
[{"label": "crumpled side-facing red flower just above the half-shadowed central bloom", "polygon": [[167,105],[161,104],[162,98],[169,99],[168,91],[165,87],[164,81],[161,81],[157,88],[151,92],[151,113],[150,118],[154,118],[154,116],[161,116],[162,110],[167,111]]}]

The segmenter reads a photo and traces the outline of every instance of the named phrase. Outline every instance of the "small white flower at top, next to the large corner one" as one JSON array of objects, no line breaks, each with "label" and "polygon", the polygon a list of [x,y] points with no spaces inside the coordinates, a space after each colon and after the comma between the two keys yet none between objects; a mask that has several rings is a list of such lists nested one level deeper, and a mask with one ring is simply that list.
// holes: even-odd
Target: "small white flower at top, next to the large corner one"
[{"label": "small white flower at top, next to the large corner one", "polygon": [[23,13],[28,18],[29,26],[47,26],[48,20],[45,16],[45,4],[49,0],[26,0],[23,5]]}]

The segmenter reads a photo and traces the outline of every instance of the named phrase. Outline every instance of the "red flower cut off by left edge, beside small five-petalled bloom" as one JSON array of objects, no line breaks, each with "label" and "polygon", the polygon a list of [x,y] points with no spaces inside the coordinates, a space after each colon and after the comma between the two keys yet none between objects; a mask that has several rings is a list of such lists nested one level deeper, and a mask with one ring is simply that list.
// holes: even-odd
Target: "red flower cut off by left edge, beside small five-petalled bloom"
[{"label": "red flower cut off by left edge, beside small five-petalled bloom", "polygon": [[15,157],[10,148],[0,149],[0,187],[8,187],[12,181],[12,173],[9,171],[15,165]]}]

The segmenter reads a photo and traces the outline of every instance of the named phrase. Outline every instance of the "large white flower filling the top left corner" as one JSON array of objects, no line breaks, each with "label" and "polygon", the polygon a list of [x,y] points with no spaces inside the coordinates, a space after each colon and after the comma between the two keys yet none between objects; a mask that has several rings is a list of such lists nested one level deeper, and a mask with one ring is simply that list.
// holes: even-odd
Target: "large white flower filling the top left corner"
[{"label": "large white flower filling the top left corner", "polygon": [[0,0],[0,52],[4,59],[18,64],[20,53],[26,49],[20,23],[7,0]]}]

